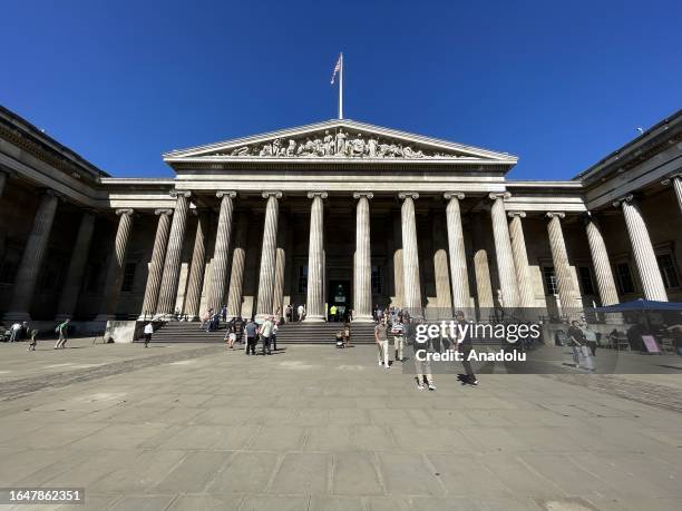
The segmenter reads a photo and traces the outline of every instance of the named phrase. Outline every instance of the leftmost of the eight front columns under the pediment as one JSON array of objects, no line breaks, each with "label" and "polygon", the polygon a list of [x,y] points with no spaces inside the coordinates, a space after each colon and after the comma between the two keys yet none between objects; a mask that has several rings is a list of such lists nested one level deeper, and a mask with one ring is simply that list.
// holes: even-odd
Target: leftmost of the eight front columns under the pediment
[{"label": "leftmost of the eight front columns under the pediment", "polygon": [[170,236],[168,238],[166,261],[164,262],[160,292],[156,305],[157,314],[173,314],[175,312],[183,240],[185,238],[185,227],[187,226],[189,191],[173,191],[172,196],[176,197],[177,200],[173,213],[173,224],[170,225]]}]

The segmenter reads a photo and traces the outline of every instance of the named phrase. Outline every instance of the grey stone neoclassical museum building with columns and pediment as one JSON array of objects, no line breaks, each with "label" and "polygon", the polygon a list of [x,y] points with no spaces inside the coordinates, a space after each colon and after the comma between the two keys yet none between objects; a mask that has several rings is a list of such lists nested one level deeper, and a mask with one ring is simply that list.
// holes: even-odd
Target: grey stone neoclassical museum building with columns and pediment
[{"label": "grey stone neoclassical museum building with columns and pediment", "polygon": [[682,110],[571,180],[349,119],[163,159],[174,178],[111,177],[0,108],[4,324],[682,301]]}]

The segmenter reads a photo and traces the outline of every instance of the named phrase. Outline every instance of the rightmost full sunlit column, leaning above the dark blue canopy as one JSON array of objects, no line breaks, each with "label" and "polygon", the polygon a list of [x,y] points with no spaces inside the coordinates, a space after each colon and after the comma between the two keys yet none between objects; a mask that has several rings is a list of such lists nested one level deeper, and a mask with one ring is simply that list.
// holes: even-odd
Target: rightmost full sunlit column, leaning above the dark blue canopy
[{"label": "rightmost full sunlit column, leaning above the dark blue canopy", "polygon": [[668,302],[668,293],[665,292],[663,277],[659,269],[656,254],[649,236],[649,229],[642,217],[640,205],[632,195],[613,203],[613,205],[615,207],[623,207],[623,216],[625,217],[632,252],[637,265],[640,279],[642,281],[644,297],[657,302]]}]

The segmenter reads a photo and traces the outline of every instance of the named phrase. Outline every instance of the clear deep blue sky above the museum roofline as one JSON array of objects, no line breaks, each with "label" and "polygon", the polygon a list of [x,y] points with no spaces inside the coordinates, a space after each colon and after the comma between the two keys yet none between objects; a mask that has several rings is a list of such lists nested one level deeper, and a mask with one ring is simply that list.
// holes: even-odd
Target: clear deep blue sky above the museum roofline
[{"label": "clear deep blue sky above the museum roofline", "polygon": [[682,106],[674,1],[3,2],[0,104],[114,176],[345,117],[563,179]]}]

